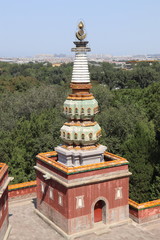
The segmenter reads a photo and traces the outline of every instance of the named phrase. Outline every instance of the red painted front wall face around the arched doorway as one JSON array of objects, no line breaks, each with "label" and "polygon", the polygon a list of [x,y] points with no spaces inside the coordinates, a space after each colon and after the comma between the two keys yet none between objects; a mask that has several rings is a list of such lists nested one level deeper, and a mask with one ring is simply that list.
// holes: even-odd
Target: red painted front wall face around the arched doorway
[{"label": "red painted front wall face around the arched doorway", "polygon": [[[115,200],[115,188],[122,187],[122,199]],[[85,207],[76,209],[76,196],[84,195]],[[92,203],[99,197],[108,200],[108,208],[116,208],[128,204],[128,177],[71,188],[67,192],[69,218],[87,215],[91,212]]]}]

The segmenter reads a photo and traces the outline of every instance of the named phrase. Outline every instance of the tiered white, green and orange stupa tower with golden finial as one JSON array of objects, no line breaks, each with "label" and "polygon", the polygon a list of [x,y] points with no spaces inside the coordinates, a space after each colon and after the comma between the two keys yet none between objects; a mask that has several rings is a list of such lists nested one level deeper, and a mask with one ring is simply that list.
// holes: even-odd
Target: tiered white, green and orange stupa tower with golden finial
[{"label": "tiered white, green and orange stupa tower with golden finial", "polygon": [[[93,120],[94,115],[98,112],[98,103],[93,94],[90,93],[92,85],[90,83],[87,60],[87,52],[90,51],[90,48],[87,47],[88,42],[84,41],[86,37],[84,33],[84,24],[80,22],[78,27],[79,30],[76,33],[76,37],[79,41],[74,42],[76,47],[72,48],[72,51],[75,52],[72,80],[70,84],[72,93],[64,102],[64,114],[68,118],[68,122],[61,128],[61,138],[65,145],[56,148],[59,161],[66,165],[70,165],[71,161],[68,161],[67,156],[64,155],[69,154],[73,156],[75,154],[85,154],[89,156],[94,153],[97,157],[98,153],[100,156],[97,157],[97,160],[93,160],[93,157],[92,160],[93,162],[99,162],[102,161],[102,154],[106,149],[106,147],[102,145],[97,145],[97,141],[101,136],[101,128],[99,124]],[[68,150],[69,152],[64,152],[64,150]],[[93,152],[93,150],[95,152]],[[78,160],[79,163],[77,161],[76,165],[84,165],[85,162],[82,160],[82,158]],[[72,165],[75,165],[75,161],[72,161]]]}]

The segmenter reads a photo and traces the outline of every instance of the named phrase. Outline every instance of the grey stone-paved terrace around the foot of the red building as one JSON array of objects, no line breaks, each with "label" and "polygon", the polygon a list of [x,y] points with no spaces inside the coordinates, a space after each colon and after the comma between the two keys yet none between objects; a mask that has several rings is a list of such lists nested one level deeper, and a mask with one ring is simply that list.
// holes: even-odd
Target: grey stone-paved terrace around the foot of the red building
[{"label": "grey stone-paved terrace around the foot of the red building", "polygon": [[[63,240],[64,238],[45,223],[34,212],[35,200],[26,199],[11,202],[9,207],[12,230],[9,240]],[[98,235],[97,235],[98,234]],[[107,233],[97,232],[75,239],[81,240],[159,240],[160,219],[137,225],[131,222],[109,229]]]}]

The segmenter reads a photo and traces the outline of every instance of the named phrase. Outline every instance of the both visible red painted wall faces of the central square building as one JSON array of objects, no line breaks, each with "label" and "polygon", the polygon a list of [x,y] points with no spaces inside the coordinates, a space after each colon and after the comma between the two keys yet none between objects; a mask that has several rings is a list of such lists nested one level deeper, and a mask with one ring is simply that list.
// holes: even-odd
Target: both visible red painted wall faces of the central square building
[{"label": "both visible red painted wall faces of the central square building", "polygon": [[[45,181],[41,173],[37,171],[37,198],[40,203],[45,201],[55,208],[66,218],[74,218],[91,213],[91,205],[98,197],[108,200],[108,207],[115,208],[128,204],[128,181],[129,178],[120,178],[96,184],[84,185],[75,188],[65,188],[53,180]],[[41,191],[41,182],[45,185],[45,191]],[[54,190],[54,200],[49,197],[49,187]],[[115,188],[122,187],[122,199],[115,200]],[[58,193],[63,195],[63,206],[58,204]],[[84,195],[84,208],[76,209],[76,197]]]}]

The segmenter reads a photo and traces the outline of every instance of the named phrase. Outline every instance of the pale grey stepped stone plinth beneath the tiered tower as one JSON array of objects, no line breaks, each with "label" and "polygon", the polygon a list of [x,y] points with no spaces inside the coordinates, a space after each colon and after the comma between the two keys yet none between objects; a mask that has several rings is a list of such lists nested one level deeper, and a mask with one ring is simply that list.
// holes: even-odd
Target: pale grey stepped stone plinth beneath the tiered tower
[{"label": "pale grey stepped stone plinth beneath the tiered tower", "polygon": [[62,146],[58,146],[55,148],[55,151],[58,153],[58,162],[68,167],[75,167],[104,162],[104,152],[106,149],[107,147],[103,145],[99,145],[97,148],[91,150],[68,150]]}]

